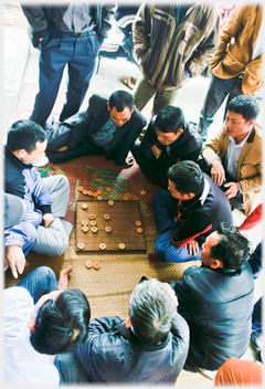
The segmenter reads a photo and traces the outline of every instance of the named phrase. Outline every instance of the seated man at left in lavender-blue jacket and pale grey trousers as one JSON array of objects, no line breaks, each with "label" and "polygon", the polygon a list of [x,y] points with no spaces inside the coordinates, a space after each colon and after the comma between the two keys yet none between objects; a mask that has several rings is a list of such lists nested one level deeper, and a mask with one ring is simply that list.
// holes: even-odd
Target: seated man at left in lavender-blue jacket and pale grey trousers
[{"label": "seated man at left in lavender-blue jacket and pale grey trousers", "polygon": [[[46,136],[32,120],[15,122],[6,145],[6,193],[25,203],[22,221],[4,230],[4,270],[23,273],[30,250],[62,255],[68,246],[72,224],[62,220],[67,211],[70,183],[65,176],[41,178],[33,167],[45,153]],[[41,225],[42,224],[42,225]]]}]

